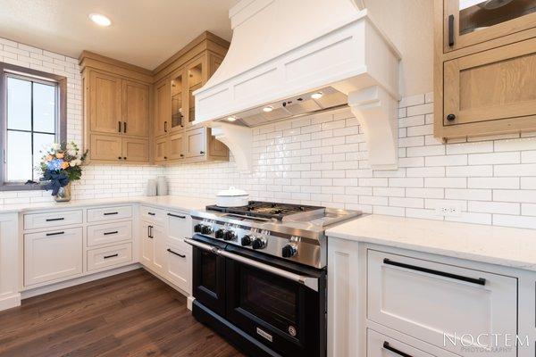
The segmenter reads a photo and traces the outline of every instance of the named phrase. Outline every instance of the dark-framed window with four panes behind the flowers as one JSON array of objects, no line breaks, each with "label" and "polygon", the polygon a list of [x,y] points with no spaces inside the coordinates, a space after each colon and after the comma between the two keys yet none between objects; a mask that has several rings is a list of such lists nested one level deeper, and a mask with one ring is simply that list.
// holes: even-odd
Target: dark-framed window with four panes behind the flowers
[{"label": "dark-framed window with four panes behind the flowers", "polygon": [[65,78],[0,62],[1,189],[39,189],[43,147],[64,141]]}]

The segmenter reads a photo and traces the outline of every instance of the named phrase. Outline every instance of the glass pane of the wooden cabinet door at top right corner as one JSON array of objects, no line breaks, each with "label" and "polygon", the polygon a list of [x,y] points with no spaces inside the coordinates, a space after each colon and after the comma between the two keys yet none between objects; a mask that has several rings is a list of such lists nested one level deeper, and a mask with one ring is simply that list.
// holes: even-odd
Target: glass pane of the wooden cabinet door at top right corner
[{"label": "glass pane of the wooden cabinet door at top right corner", "polygon": [[460,35],[536,12],[536,0],[459,0]]}]

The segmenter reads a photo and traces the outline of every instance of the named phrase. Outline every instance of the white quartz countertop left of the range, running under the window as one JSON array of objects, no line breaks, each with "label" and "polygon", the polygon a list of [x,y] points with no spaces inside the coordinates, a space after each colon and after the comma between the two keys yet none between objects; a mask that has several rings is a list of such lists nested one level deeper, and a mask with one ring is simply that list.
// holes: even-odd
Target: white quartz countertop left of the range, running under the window
[{"label": "white quartz countertop left of the range, running under the window", "polygon": [[6,212],[29,212],[39,210],[68,210],[77,207],[87,207],[94,205],[114,205],[128,203],[143,203],[155,205],[158,207],[168,208],[172,210],[190,211],[204,209],[208,204],[215,203],[214,199],[188,197],[180,195],[161,195],[154,197],[134,196],[134,197],[110,197],[110,198],[95,198],[71,200],[70,202],[43,202],[43,203],[18,203],[0,205],[0,213]]}]

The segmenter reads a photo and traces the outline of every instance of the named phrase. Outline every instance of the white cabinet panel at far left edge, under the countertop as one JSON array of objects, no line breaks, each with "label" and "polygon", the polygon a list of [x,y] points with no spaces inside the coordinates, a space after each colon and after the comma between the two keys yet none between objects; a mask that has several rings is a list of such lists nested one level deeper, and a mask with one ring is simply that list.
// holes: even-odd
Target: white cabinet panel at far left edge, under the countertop
[{"label": "white cabinet panel at far left edge, under the countertop", "polygon": [[0,214],[0,311],[21,303],[17,213]]}]

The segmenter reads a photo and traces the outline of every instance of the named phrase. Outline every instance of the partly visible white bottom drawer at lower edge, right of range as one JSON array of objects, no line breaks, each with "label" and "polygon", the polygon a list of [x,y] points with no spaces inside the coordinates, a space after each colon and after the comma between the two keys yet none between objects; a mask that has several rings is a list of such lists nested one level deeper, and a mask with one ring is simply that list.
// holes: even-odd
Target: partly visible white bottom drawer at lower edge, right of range
[{"label": "partly visible white bottom drawer at lower edge, right of range", "polygon": [[438,348],[429,348],[433,351],[426,352],[423,344],[411,346],[398,339],[382,335],[373,329],[366,331],[366,356],[367,357],[456,357],[457,354],[440,351]]}]

